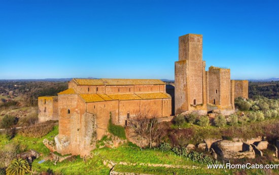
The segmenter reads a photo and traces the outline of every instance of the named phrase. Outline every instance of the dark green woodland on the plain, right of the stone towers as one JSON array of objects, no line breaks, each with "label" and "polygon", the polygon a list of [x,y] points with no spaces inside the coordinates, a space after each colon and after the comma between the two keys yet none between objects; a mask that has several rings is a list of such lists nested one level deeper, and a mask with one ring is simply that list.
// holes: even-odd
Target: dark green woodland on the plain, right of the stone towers
[{"label": "dark green woodland on the plain, right of the stone towers", "polygon": [[279,99],[279,82],[249,82],[249,98],[257,95]]}]

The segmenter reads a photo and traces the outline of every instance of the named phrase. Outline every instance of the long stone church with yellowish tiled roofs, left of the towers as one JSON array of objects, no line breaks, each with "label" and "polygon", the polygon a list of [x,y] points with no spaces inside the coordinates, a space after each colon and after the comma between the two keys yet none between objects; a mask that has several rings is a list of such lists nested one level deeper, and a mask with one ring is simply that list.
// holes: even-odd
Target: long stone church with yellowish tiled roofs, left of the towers
[{"label": "long stone church with yellowish tiled roofs, left of the towers", "polygon": [[[40,103],[39,103],[40,104]],[[58,93],[60,154],[87,155],[107,134],[110,117],[115,125],[141,111],[158,118],[171,116],[171,97],[160,80],[73,79]]]}]

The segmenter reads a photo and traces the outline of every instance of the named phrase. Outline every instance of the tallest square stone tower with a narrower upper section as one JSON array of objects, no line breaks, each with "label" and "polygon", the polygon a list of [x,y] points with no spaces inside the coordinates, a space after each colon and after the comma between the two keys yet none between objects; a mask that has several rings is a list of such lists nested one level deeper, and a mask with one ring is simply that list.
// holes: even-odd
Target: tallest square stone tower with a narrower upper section
[{"label": "tallest square stone tower with a narrower upper section", "polygon": [[175,113],[207,114],[207,80],[202,60],[202,35],[179,37],[179,61],[175,63]]}]

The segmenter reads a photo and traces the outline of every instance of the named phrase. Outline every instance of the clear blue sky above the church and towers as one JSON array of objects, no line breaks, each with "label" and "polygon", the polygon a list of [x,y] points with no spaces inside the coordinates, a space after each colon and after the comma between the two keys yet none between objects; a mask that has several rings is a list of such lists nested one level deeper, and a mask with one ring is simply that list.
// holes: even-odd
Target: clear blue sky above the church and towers
[{"label": "clear blue sky above the church and towers", "polygon": [[206,66],[279,77],[279,1],[0,0],[0,79],[174,79],[178,37]]}]

